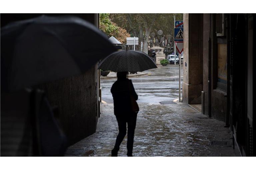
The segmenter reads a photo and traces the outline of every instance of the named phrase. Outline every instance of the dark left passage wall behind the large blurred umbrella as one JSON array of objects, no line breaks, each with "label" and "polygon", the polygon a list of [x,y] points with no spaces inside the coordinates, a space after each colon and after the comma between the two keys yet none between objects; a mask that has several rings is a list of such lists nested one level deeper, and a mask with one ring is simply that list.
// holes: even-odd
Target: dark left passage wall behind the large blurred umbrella
[{"label": "dark left passage wall behind the large blurred umbrella", "polygon": [[[1,27],[6,24],[38,17],[42,14],[1,14]],[[46,14],[48,16],[73,15],[98,27],[98,14]],[[99,108],[99,71],[97,64],[83,75],[67,77],[40,85],[51,106],[59,110],[59,122],[71,145],[96,131]]]}]

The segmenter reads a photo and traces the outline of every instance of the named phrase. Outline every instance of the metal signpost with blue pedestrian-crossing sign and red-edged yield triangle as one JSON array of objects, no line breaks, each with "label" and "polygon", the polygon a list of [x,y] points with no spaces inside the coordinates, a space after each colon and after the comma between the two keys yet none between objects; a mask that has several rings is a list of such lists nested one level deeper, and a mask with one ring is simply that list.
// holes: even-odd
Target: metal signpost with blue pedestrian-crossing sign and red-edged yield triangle
[{"label": "metal signpost with blue pedestrian-crossing sign and red-edged yield triangle", "polygon": [[[183,51],[183,21],[175,21],[174,18],[174,44],[179,52],[179,102],[180,100],[180,67],[181,67],[181,57],[180,54]],[[174,54],[174,58],[176,58],[176,50]]]}]

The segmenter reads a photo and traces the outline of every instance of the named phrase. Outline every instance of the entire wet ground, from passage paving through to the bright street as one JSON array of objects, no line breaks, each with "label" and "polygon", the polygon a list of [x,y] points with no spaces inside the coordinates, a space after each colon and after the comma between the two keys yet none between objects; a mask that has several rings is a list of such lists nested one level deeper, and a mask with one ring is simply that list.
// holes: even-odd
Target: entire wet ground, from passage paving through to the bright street
[{"label": "entire wet ground, from passage paving through to the bright street", "polygon": [[[177,70],[159,67],[150,70],[151,75],[132,78],[140,99],[133,156],[235,156],[224,122],[173,102],[178,97]],[[111,156],[118,134],[112,96],[108,94],[114,81],[101,81],[102,100],[108,104],[102,104],[96,132],[70,146],[66,156]],[[118,156],[126,156],[126,137]]]}]

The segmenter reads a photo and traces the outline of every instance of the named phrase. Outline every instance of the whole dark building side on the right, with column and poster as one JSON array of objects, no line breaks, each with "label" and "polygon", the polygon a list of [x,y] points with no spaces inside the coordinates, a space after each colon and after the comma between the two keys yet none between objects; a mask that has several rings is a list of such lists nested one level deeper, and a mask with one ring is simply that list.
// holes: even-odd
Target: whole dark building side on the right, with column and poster
[{"label": "whole dark building side on the right, with column and poster", "polygon": [[255,156],[255,14],[184,14],[183,20],[183,102],[202,104],[202,114],[225,122],[237,155]]}]

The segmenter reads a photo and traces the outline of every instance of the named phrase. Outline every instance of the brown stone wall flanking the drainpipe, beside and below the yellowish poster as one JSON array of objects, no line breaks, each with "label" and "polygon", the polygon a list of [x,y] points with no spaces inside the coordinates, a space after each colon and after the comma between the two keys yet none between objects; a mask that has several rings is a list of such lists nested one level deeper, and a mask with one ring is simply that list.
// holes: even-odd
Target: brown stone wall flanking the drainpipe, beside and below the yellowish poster
[{"label": "brown stone wall flanking the drainpipe, beside and below the yellowish poster", "polygon": [[[215,17],[214,14],[203,14],[203,91],[204,91],[204,114],[209,115],[208,110],[208,71],[211,72],[211,117],[221,121],[225,121],[227,110],[227,95],[226,91],[217,88],[217,37],[215,31]],[[210,22],[212,22],[210,24]],[[211,25],[211,34],[210,34]],[[209,67],[209,36],[211,38],[211,66]]]}]

